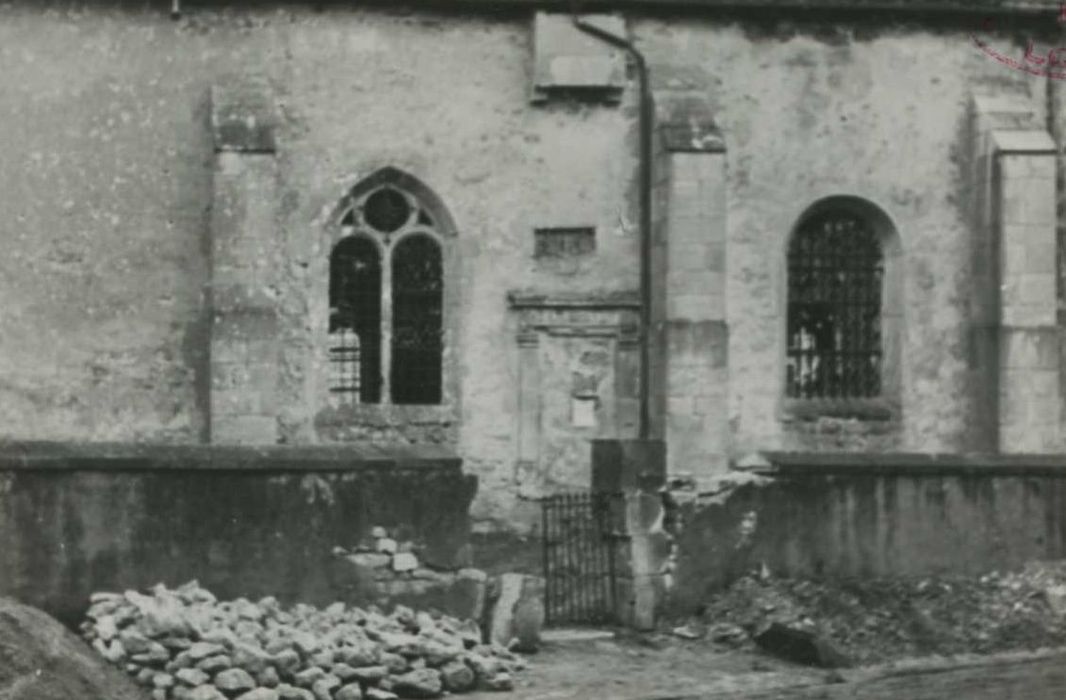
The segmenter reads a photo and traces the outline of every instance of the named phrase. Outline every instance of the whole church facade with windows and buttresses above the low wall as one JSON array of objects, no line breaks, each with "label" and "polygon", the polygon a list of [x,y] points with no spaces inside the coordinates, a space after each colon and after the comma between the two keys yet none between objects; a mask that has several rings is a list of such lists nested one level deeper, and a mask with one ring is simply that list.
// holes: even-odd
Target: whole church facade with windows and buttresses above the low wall
[{"label": "whole church facade with windows and buttresses above the low wall", "polygon": [[0,4],[3,437],[1066,449],[1056,4]]}]

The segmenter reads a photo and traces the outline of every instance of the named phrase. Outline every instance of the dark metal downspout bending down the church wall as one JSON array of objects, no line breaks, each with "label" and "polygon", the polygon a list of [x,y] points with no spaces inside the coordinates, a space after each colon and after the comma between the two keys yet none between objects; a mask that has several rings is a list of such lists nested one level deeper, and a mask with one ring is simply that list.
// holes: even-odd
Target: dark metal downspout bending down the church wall
[{"label": "dark metal downspout bending down the church wall", "polygon": [[574,2],[570,18],[574,26],[596,38],[626,51],[636,64],[641,89],[640,112],[640,201],[641,201],[641,380],[640,380],[640,438],[647,440],[650,433],[650,369],[651,369],[651,129],[655,103],[648,83],[648,66],[636,47],[620,36],[607,32],[578,16],[578,2]]}]

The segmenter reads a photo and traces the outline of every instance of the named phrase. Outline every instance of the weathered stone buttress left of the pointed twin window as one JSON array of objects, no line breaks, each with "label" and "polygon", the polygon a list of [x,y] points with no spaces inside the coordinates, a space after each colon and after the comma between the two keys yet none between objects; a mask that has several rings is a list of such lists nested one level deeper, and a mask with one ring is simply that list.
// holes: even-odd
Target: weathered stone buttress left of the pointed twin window
[{"label": "weathered stone buttress left of the pointed twin window", "polygon": [[275,98],[263,81],[211,91],[211,441],[278,438],[278,173]]}]

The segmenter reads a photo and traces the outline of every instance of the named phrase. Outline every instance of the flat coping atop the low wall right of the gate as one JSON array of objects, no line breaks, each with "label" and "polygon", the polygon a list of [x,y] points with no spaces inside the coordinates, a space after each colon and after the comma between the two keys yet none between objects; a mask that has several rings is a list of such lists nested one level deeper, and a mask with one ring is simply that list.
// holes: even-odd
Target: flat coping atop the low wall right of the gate
[{"label": "flat coping atop the low wall right of the gate", "polygon": [[761,452],[763,463],[734,467],[768,476],[1054,476],[1066,478],[1066,454]]}]

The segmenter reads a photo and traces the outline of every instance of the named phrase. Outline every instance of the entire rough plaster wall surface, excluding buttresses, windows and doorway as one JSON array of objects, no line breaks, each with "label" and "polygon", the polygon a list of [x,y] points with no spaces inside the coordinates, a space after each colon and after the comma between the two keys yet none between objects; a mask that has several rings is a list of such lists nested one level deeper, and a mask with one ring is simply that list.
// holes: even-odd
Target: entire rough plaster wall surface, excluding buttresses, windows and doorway
[{"label": "entire rough plaster wall surface, excluding buttresses, windows and doorway", "polygon": [[[309,290],[326,270],[322,227],[361,177],[400,167],[434,189],[458,227],[458,449],[482,479],[475,516],[511,518],[517,352],[505,290],[637,281],[634,91],[621,108],[530,108],[528,26],[247,7],[172,22],[0,5],[0,226],[18,243],[0,259],[4,435],[199,438],[207,89],[258,72],[285,115],[282,434],[319,439]],[[656,89],[709,96],[727,139],[737,450],[965,449],[967,385],[980,379],[967,365],[966,103],[980,87],[1032,88],[1039,100],[1038,80],[988,61],[960,33],[826,43],[692,18],[633,27]],[[830,194],[870,198],[903,241],[904,421],[887,437],[797,438],[777,418],[786,235]],[[574,225],[597,227],[595,268],[537,272],[533,228]]]}]

